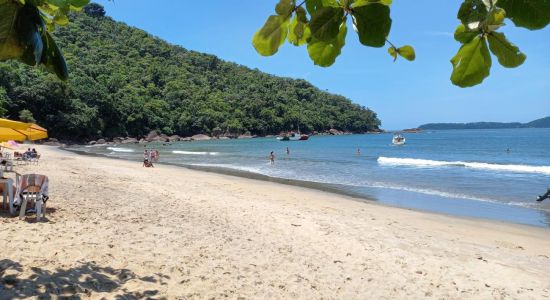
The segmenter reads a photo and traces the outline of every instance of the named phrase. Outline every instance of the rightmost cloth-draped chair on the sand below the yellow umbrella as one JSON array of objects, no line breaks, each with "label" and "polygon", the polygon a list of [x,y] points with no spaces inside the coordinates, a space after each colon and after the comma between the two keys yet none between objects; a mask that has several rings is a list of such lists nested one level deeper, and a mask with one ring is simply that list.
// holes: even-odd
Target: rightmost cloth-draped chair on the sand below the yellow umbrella
[{"label": "rightmost cloth-draped chair on the sand below the yellow umbrella", "polygon": [[17,182],[14,205],[19,207],[19,219],[24,219],[27,205],[34,203],[36,220],[46,217],[46,202],[48,201],[48,177],[40,174],[22,175]]}]

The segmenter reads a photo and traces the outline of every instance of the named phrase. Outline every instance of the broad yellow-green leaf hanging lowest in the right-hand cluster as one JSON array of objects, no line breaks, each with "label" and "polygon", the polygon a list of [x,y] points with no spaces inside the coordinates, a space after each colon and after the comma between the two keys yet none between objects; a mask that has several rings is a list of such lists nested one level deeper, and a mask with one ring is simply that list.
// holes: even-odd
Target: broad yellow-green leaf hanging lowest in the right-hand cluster
[{"label": "broad yellow-green leaf hanging lowest in the right-hand cluster", "polygon": [[487,42],[482,37],[475,37],[462,45],[458,53],[451,59],[453,73],[451,81],[460,87],[480,84],[491,69],[491,55]]}]

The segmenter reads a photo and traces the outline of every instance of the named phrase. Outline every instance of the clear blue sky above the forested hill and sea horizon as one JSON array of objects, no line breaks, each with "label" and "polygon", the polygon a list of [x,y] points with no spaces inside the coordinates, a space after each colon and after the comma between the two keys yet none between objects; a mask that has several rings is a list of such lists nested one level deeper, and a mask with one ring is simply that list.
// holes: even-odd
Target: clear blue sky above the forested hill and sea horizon
[{"label": "clear blue sky above the forested hill and sea horizon", "polygon": [[359,44],[349,31],[346,47],[329,68],[314,66],[305,47],[284,45],[262,57],[251,39],[273,14],[277,0],[99,0],[117,21],[141,28],[172,44],[285,77],[303,78],[350,98],[379,114],[382,127],[400,129],[428,122],[520,121],[550,115],[550,28],[528,31],[511,22],[508,39],[527,54],[517,69],[493,59],[491,76],[480,86],[451,84],[450,59],[459,48],[452,32],[461,1],[394,1],[392,33],[411,44],[417,60],[394,63],[386,48]]}]

